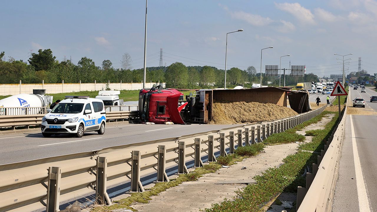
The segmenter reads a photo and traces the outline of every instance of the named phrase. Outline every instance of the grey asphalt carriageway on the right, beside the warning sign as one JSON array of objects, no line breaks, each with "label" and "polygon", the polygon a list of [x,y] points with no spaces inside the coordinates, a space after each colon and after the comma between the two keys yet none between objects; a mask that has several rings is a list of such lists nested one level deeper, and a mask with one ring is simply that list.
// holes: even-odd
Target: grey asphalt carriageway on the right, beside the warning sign
[{"label": "grey asphalt carriageway on the right, beside the warning sign", "polygon": [[[351,88],[352,89],[352,88]],[[377,92],[369,88],[351,90],[351,100],[362,97],[364,108],[371,115],[347,115],[346,131],[343,140],[336,184],[333,211],[377,211],[377,102],[369,102],[369,97]],[[351,101],[352,103],[352,101]]]}]

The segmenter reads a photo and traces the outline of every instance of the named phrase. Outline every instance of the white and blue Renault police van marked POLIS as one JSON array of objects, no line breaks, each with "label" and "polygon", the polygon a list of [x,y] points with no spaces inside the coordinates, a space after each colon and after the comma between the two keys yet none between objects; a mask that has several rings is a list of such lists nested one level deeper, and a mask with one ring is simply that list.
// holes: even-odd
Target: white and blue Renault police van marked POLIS
[{"label": "white and blue Renault police van marked POLIS", "polygon": [[88,96],[66,96],[51,112],[42,118],[41,131],[44,137],[52,134],[75,134],[84,132],[105,133],[106,111],[103,101]]}]

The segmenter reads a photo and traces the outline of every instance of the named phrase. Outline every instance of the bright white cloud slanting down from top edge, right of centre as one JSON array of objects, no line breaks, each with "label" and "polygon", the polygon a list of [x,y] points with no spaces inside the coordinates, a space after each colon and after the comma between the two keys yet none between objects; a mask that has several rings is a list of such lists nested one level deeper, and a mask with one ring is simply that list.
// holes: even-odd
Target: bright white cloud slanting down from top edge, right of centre
[{"label": "bright white cloud slanting down from top edge, right of centre", "polygon": [[304,8],[299,3],[275,3],[275,6],[282,11],[290,13],[302,23],[315,23],[314,15],[309,9]]}]

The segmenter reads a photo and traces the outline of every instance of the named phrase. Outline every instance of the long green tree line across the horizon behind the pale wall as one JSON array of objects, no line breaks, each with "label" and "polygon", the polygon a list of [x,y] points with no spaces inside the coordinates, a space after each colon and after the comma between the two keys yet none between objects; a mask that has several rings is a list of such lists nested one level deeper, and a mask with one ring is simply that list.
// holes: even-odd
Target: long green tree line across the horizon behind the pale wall
[{"label": "long green tree line across the horizon behind the pale wall", "polygon": [[[83,57],[77,65],[70,60],[58,61],[53,56],[51,49],[40,49],[33,53],[28,63],[22,60],[9,58],[3,60],[4,53],[0,56],[0,84],[18,83],[92,83],[100,82],[141,82],[143,69],[115,69],[110,60],[104,60],[101,66],[96,66],[90,58]],[[127,66],[130,67],[130,66]],[[221,88],[224,87],[225,72],[212,66],[185,66],[180,62],[173,63],[168,67],[148,67],[146,81],[166,82],[169,88]],[[253,83],[259,83],[260,73],[254,66],[246,70],[233,67],[227,70],[227,86],[234,87],[245,85],[251,87]],[[283,79],[282,79],[283,80]],[[286,84],[296,84],[296,81],[317,81],[317,75],[306,74],[305,77],[286,76]],[[279,77],[269,77],[262,74],[262,83],[279,86]],[[283,81],[282,81],[283,84]]]}]

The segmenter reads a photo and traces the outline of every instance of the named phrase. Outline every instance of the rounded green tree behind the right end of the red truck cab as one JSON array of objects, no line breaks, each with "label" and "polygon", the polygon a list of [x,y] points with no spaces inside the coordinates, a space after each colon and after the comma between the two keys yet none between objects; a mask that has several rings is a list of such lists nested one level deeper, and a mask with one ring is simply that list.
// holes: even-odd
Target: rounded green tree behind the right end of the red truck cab
[{"label": "rounded green tree behind the right end of the red truck cab", "polygon": [[167,87],[183,88],[187,85],[188,78],[187,67],[183,63],[175,62],[166,69],[165,81]]}]

